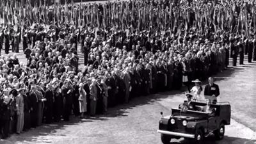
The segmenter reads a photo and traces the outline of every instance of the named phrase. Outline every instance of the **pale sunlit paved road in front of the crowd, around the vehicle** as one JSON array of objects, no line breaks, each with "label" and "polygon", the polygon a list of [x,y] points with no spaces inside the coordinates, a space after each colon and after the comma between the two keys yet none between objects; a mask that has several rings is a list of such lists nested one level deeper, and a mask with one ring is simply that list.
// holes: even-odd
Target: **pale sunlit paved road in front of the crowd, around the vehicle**
[{"label": "pale sunlit paved road in front of the crowd, around the vehicle", "polygon": [[[236,68],[230,67],[216,76],[216,83],[221,88],[221,100],[230,101],[232,106],[232,121],[226,127],[224,140],[214,141],[210,137],[205,140],[205,144],[256,143],[253,95],[253,88],[256,86],[253,81],[256,77],[255,70],[256,63],[245,63]],[[183,93],[181,90],[138,97],[129,104],[109,109],[108,115],[84,120],[72,118],[68,123],[43,125],[24,134],[14,134],[8,140],[0,140],[0,143],[161,143],[160,136],[156,133],[161,117],[159,111],[167,115],[170,113],[168,109],[177,108],[184,100]],[[177,143],[189,141],[172,141],[172,144]]]}]

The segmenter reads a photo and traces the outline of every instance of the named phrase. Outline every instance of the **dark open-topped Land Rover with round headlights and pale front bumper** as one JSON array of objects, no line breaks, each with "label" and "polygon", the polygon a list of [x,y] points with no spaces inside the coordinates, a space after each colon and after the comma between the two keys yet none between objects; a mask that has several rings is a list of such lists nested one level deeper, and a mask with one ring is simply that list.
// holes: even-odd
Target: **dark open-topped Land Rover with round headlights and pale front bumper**
[{"label": "dark open-topped Land Rover with round headlights and pale front bumper", "polygon": [[[230,104],[228,102],[218,102],[209,104],[207,102],[190,102],[193,110],[186,106],[172,108],[172,115],[163,116],[159,121],[161,141],[170,143],[172,138],[185,138],[193,143],[202,143],[204,138],[214,134],[217,140],[224,137],[225,125],[230,125]],[[211,108],[213,111],[205,111]]]}]

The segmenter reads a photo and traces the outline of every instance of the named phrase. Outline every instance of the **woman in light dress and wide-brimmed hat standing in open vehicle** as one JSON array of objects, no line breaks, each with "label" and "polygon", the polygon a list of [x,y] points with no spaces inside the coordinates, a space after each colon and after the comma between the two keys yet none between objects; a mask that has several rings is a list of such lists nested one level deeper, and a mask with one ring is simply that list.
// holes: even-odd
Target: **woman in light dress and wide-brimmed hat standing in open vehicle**
[{"label": "woman in light dress and wide-brimmed hat standing in open vehicle", "polygon": [[201,95],[201,92],[203,90],[201,86],[201,81],[196,79],[195,81],[192,81],[192,82],[195,83],[195,86],[193,86],[193,88],[191,89],[191,93],[193,93],[192,99],[196,101],[204,100],[204,96]]}]

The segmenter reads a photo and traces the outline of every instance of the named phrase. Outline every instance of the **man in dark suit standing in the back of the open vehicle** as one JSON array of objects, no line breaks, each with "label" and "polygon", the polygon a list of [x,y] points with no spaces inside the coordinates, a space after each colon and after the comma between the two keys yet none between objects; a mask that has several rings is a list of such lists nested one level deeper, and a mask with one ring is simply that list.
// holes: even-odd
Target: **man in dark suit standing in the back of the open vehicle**
[{"label": "man in dark suit standing in the back of the open vehicle", "polygon": [[[204,88],[204,95],[209,95],[211,97],[218,97],[220,95],[220,89],[219,86],[215,83],[213,83],[214,79],[213,77],[209,77],[208,79],[209,84],[206,84]],[[217,102],[217,100],[212,101]]]}]

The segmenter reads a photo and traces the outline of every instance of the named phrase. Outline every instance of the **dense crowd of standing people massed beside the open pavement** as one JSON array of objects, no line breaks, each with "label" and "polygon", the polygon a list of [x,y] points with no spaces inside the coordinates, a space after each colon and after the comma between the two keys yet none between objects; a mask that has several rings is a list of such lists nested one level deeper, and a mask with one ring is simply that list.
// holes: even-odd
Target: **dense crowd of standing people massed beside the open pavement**
[{"label": "dense crowd of standing people massed beside the open pavement", "polygon": [[[42,123],[95,116],[133,97],[188,87],[256,60],[253,1],[0,2],[3,138]],[[20,52],[27,63],[9,51]],[[79,46],[81,45],[81,51]],[[79,68],[78,53],[84,55]]]}]

